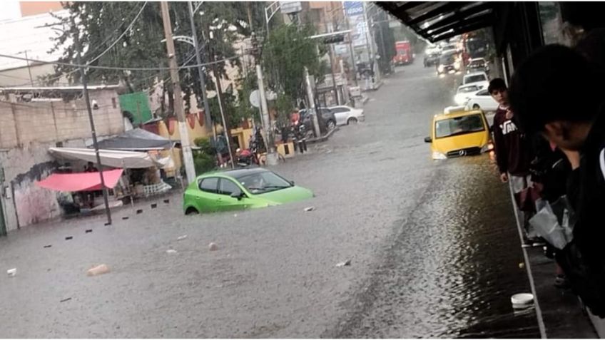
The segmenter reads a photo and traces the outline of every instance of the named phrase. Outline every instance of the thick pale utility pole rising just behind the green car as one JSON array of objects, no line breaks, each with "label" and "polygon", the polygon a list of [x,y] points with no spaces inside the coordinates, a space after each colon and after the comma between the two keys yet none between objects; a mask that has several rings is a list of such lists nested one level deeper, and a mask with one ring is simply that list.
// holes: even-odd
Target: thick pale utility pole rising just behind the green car
[{"label": "thick pale utility pole rising just behind the green car", "polygon": [[189,133],[185,123],[185,113],[183,111],[183,96],[181,96],[181,81],[178,78],[178,68],[176,66],[176,55],[174,51],[174,41],[172,38],[172,26],[170,22],[170,13],[168,12],[168,2],[161,1],[162,21],[164,26],[164,35],[166,36],[166,49],[168,50],[168,62],[170,65],[171,81],[174,89],[174,111],[178,120],[178,131],[181,133],[181,146],[183,147],[183,164],[187,174],[187,182],[195,180],[195,167],[193,166],[193,153],[189,145]]}]

